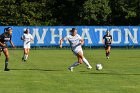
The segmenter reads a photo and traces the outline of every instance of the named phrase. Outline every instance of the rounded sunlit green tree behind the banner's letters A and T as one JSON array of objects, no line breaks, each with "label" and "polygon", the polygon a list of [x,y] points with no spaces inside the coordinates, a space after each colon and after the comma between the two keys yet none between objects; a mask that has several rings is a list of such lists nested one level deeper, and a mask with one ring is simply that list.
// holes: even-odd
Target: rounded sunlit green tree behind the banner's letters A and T
[{"label": "rounded sunlit green tree behind the banner's letters A and T", "polygon": [[84,25],[106,25],[111,9],[109,0],[87,0],[81,11]]}]

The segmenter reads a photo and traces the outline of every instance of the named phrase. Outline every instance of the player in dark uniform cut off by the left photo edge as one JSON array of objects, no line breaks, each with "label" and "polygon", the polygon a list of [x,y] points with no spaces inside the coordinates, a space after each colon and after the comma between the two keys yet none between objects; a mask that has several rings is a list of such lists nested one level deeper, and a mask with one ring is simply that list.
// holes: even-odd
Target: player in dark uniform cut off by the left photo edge
[{"label": "player in dark uniform cut off by the left photo edge", "polygon": [[0,35],[0,53],[3,51],[5,55],[5,71],[9,71],[8,69],[8,60],[9,60],[9,52],[7,42],[9,41],[10,44],[14,46],[12,40],[12,28],[8,27],[4,29],[4,33]]}]

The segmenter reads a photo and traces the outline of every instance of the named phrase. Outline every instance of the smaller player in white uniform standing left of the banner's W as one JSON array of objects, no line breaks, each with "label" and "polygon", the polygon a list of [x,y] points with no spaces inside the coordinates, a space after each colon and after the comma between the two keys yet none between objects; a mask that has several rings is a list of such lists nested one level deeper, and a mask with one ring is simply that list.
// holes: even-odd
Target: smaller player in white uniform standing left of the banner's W
[{"label": "smaller player in white uniform standing left of the banner's W", "polygon": [[23,47],[24,47],[24,55],[22,57],[22,61],[26,61],[30,51],[30,42],[33,40],[32,35],[29,33],[29,29],[27,28],[24,31],[24,34],[21,37],[23,40]]}]

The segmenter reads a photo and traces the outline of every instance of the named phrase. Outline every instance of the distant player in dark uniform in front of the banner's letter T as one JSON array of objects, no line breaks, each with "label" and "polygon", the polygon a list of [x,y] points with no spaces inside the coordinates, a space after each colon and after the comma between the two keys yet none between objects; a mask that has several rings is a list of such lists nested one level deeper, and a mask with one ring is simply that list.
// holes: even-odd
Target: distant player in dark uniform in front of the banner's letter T
[{"label": "distant player in dark uniform in front of the banner's letter T", "polygon": [[110,55],[110,49],[111,49],[111,43],[112,43],[112,36],[110,35],[110,32],[107,30],[106,35],[103,37],[103,44],[105,44],[105,51],[106,51],[106,58],[109,59]]}]

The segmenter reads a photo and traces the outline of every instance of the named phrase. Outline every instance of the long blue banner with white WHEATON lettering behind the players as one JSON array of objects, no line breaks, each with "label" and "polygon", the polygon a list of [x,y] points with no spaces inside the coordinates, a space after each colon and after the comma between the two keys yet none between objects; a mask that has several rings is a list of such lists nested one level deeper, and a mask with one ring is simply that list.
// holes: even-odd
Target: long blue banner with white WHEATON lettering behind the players
[{"label": "long blue banner with white WHEATON lettering behind the players", "polygon": [[[0,34],[7,26],[0,26]],[[69,35],[69,30],[77,28],[78,34],[84,39],[85,46],[103,46],[102,38],[109,30],[113,42],[112,46],[140,46],[139,26],[10,26],[13,29],[12,41],[15,46],[22,46],[20,39],[24,29],[29,28],[34,41],[31,46],[58,46],[59,40]],[[63,46],[69,46],[68,41]]]}]

